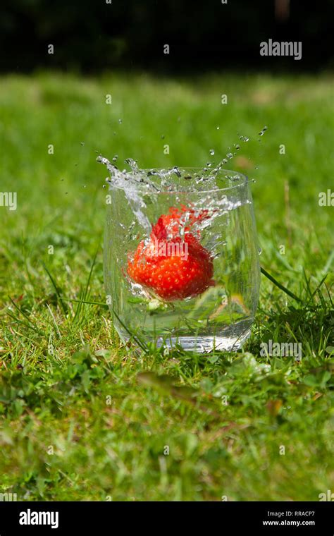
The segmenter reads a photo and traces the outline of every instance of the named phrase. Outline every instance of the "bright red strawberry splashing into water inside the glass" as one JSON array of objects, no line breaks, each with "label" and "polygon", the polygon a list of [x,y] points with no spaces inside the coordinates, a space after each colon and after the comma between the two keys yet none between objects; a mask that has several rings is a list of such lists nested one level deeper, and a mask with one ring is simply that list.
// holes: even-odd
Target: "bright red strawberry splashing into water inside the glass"
[{"label": "bright red strawberry splashing into water inside the glass", "polygon": [[149,241],[142,240],[129,258],[131,279],[168,301],[197,296],[213,285],[211,255],[199,243],[199,232],[190,233],[194,223],[206,217],[207,211],[171,207],[152,226]]}]

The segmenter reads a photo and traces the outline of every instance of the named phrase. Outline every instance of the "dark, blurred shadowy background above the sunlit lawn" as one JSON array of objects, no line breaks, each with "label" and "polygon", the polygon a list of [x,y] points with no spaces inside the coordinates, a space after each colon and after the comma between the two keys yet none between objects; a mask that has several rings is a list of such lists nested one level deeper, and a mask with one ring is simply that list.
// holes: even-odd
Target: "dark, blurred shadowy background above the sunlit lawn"
[{"label": "dark, blurred shadowy background above the sunlit lawn", "polygon": [[[316,71],[333,64],[333,11],[333,0],[1,0],[0,69]],[[269,38],[302,41],[302,60],[260,56]]]}]

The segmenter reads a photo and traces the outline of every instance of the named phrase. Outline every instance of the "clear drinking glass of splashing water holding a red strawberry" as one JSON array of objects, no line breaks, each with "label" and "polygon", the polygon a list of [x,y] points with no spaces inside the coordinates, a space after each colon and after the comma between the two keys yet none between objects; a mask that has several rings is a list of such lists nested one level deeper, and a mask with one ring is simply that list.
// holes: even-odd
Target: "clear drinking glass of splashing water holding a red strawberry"
[{"label": "clear drinking glass of splashing water holding a red strawberry", "polygon": [[240,348],[260,280],[247,177],[223,169],[208,181],[199,169],[141,173],[157,188],[138,197],[111,185],[107,202],[104,279],[118,334],[201,353]]}]

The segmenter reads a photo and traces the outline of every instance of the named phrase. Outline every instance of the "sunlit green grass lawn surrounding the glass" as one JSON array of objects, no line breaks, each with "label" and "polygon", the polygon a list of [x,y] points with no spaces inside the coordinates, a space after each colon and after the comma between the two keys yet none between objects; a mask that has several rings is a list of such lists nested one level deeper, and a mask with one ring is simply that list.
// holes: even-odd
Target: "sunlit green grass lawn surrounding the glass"
[{"label": "sunlit green grass lawn surrounding the glass", "polygon": [[[333,490],[334,208],[318,205],[333,187],[333,79],[13,75],[0,105],[0,190],[18,204],[0,207],[0,491],[317,501]],[[84,303],[105,303],[97,153],[202,166],[238,133],[252,138],[231,166],[256,180],[261,266],[299,300],[262,276],[243,352],[138,356],[108,307]],[[302,362],[261,356],[269,339],[302,343]]]}]

